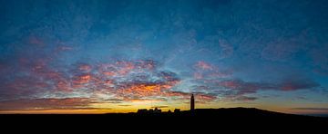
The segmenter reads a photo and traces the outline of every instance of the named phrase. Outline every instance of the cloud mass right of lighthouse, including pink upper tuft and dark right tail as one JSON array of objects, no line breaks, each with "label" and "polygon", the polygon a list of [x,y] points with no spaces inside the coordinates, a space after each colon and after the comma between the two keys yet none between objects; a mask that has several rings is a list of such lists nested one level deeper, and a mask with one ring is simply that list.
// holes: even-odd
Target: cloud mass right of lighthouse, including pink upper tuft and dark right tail
[{"label": "cloud mass right of lighthouse, including pink upper tuft and dark right tail", "polygon": [[[280,81],[243,81],[233,77],[232,72],[220,70],[208,62],[196,62],[193,66],[194,75],[191,82],[192,92],[210,94],[210,97],[220,96],[230,101],[255,101],[258,97],[249,97],[258,91],[299,91],[312,90],[319,83],[302,75],[290,75]],[[212,101],[215,99],[212,99]]]}]

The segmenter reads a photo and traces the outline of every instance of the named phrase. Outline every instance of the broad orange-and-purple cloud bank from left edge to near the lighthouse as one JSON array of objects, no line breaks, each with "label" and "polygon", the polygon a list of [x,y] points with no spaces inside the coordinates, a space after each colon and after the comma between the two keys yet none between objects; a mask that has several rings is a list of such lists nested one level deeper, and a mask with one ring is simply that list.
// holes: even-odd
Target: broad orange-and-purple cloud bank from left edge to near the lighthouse
[{"label": "broad orange-and-purple cloud bank from left edge to near the lighthouse", "polygon": [[[37,99],[44,96],[73,97],[75,94],[92,96],[98,101],[115,102],[157,100],[184,94],[171,91],[179,83],[174,72],[159,70],[152,60],[114,61],[90,65],[77,63],[58,72],[44,62],[32,65],[26,76],[14,75],[0,93],[4,100]],[[65,93],[62,93],[65,92]],[[114,102],[114,101],[113,101]]]}]

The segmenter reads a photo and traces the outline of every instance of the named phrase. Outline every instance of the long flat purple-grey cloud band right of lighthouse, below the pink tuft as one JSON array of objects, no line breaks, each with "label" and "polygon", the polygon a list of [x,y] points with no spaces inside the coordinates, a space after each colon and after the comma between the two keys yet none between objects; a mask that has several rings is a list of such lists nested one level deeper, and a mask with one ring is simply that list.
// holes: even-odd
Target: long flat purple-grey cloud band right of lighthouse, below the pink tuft
[{"label": "long flat purple-grey cloud band right of lighthouse, below the pink tuft", "polygon": [[[317,89],[320,84],[301,76],[290,76],[277,82],[265,81],[243,81],[241,79],[201,79],[196,81],[193,91],[212,94],[211,96],[220,96],[227,101],[255,101],[256,93],[259,91],[300,91]],[[249,97],[251,95],[252,97]]]}]

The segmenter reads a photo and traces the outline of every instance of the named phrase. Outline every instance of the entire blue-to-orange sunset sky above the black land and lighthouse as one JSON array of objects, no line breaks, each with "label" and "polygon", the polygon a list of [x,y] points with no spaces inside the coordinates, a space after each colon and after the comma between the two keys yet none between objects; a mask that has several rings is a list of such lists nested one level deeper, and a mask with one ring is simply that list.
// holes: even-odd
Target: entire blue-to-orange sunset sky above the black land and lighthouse
[{"label": "entire blue-to-orange sunset sky above the black land and lighthouse", "polygon": [[328,113],[328,1],[0,0],[0,113]]}]

